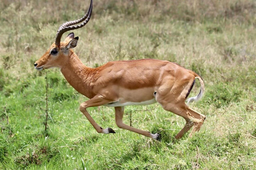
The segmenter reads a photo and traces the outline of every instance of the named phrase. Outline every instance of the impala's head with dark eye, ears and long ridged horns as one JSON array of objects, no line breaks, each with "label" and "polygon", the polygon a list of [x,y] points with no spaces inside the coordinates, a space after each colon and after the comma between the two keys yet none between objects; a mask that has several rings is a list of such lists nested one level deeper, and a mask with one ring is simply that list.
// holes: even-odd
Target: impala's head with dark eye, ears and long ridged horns
[{"label": "impala's head with dark eye, ears and long ridged horns", "polygon": [[[87,13],[83,18],[75,21],[69,21],[63,23],[57,32],[55,43],[45,52],[45,54],[35,62],[35,69],[41,71],[43,69],[49,69],[51,67],[61,67],[63,62],[69,57],[69,50],[76,47],[78,42],[78,37],[75,37],[74,33],[69,33],[66,39],[60,42],[63,33],[84,27],[84,25],[89,22],[92,14],[92,1]],[[82,22],[82,23],[81,23]],[[81,24],[78,24],[81,23]],[[78,24],[78,25],[75,25]]]}]

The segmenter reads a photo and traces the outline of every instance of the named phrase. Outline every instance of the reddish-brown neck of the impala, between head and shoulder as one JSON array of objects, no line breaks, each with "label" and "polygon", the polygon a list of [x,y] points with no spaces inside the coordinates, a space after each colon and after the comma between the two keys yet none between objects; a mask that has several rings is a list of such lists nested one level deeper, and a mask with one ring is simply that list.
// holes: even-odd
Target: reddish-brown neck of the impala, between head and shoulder
[{"label": "reddish-brown neck of the impala, between head and shoulder", "polygon": [[92,68],[86,67],[81,60],[70,50],[69,57],[65,65],[61,67],[61,73],[68,83],[82,95],[92,98],[92,86],[90,72]]}]

